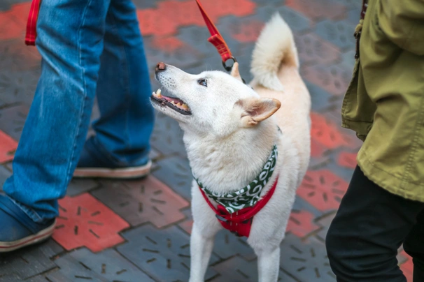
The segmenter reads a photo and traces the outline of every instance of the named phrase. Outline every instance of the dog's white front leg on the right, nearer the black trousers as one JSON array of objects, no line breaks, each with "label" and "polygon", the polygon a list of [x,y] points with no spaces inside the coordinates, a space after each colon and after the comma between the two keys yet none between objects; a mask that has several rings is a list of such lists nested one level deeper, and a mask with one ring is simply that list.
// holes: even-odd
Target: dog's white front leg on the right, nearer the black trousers
[{"label": "dog's white front leg on the right, nearer the black trousers", "polygon": [[276,282],[280,267],[280,246],[255,249],[259,282]]}]

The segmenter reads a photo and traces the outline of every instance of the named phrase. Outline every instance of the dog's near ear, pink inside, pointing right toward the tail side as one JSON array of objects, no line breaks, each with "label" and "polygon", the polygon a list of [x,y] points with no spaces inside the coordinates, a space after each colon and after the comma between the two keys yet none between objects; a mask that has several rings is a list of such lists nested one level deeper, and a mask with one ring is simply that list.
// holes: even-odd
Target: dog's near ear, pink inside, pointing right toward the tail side
[{"label": "dog's near ear, pink inside, pointing right toward the tail side", "polygon": [[281,102],[274,98],[245,98],[237,101],[236,105],[243,110],[241,124],[249,127],[271,117],[281,107]]}]

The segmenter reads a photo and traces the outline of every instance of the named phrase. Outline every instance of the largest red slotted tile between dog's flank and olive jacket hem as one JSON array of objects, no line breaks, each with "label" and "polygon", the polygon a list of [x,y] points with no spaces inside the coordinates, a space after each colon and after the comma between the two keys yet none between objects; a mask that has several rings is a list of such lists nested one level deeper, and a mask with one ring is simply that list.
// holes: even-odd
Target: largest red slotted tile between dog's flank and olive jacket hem
[{"label": "largest red slotted tile between dog's flank and olive jacket hem", "polygon": [[297,189],[297,195],[320,211],[337,209],[348,183],[330,170],[310,170]]}]

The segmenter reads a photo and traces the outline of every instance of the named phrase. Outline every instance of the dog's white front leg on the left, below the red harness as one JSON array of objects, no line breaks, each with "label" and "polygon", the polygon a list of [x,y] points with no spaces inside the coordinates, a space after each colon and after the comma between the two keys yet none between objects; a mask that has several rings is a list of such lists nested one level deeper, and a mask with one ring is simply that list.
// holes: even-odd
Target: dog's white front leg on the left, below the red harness
[{"label": "dog's white front leg on the left, below the red harness", "polygon": [[204,281],[209,258],[211,258],[214,237],[214,235],[202,235],[199,226],[193,223],[190,237],[190,282]]}]

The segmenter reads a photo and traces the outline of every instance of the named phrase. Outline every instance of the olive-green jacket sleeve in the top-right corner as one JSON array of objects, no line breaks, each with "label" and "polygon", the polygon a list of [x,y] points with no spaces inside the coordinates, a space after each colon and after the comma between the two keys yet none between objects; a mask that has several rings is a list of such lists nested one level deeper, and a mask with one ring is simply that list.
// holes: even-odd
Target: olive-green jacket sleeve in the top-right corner
[{"label": "olive-green jacket sleeve in the top-right corner", "polygon": [[424,0],[380,0],[379,27],[397,46],[424,54]]}]

